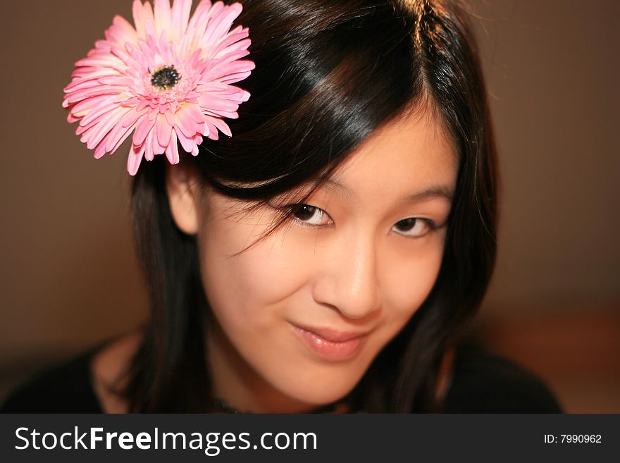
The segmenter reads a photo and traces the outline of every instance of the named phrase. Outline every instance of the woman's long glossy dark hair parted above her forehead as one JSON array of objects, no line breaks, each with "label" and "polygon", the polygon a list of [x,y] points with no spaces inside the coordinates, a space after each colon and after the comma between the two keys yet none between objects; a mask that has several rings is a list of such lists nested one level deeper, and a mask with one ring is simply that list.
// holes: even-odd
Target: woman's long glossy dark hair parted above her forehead
[{"label": "woman's long glossy dark hair parted above her forehead", "polygon": [[[320,181],[411,108],[440,116],[457,147],[438,279],[351,396],[368,412],[433,411],[442,355],[480,304],[495,262],[495,146],[466,15],[427,0],[242,3],[238,23],[249,27],[256,69],[240,86],[252,97],[230,121],[233,137],[205,139],[198,156],[181,160],[213,190],[256,204]],[[132,412],[206,412],[209,307],[196,240],[171,218],[165,172],[166,160],[156,156],[132,185],[152,316],[124,393]]]}]

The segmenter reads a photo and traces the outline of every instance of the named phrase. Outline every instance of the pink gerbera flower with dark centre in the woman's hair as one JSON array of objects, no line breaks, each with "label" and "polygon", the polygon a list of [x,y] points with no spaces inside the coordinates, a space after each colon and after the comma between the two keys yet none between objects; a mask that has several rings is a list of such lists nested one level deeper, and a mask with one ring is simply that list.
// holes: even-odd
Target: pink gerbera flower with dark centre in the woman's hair
[{"label": "pink gerbera flower with dark centre in the woman's hair", "polygon": [[116,16],[105,40],[75,63],[64,89],[69,122],[94,157],[112,154],[133,132],[127,169],[135,175],[144,156],[166,154],[178,163],[178,142],[198,154],[202,137],[230,137],[223,118],[237,118],[249,93],[235,87],[254,69],[248,30],[233,21],[241,4],[202,0],[134,0],[135,28]]}]

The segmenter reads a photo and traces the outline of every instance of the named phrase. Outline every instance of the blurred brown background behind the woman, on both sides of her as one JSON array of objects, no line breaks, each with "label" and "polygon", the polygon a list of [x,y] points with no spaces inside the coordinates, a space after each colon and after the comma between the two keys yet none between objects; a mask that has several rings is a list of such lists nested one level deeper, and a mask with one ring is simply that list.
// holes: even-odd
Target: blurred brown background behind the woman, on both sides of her
[{"label": "blurred brown background behind the woman, on both sides of her", "polygon": [[[473,333],[567,412],[620,412],[620,2],[477,0],[503,177]],[[62,89],[130,0],[2,1],[0,400],[147,316],[125,146],[94,161]]]}]

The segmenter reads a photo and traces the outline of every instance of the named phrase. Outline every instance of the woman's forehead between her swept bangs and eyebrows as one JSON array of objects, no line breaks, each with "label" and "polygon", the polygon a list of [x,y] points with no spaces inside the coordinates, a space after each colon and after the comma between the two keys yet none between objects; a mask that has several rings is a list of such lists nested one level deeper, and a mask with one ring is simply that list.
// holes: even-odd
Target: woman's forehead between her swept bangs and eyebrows
[{"label": "woman's forehead between her swept bangs and eyebrows", "polygon": [[458,154],[440,118],[410,114],[378,128],[335,170],[321,190],[349,199],[452,192]]}]

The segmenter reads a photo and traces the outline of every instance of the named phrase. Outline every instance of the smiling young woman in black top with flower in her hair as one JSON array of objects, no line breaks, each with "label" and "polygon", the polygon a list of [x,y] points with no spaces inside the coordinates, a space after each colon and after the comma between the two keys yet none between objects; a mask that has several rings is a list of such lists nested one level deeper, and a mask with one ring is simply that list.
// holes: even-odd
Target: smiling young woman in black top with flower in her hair
[{"label": "smiling young woman in black top with flower in her hair", "polygon": [[[151,319],[5,411],[557,411],[512,364],[455,349],[492,273],[497,222],[495,145],[464,11],[440,0],[247,0],[241,13],[213,13],[203,1],[187,25],[188,3],[157,0],[151,16],[135,3],[147,37],[136,49],[159,59],[149,92],[185,91],[189,71],[161,51],[167,40],[211,46],[162,35],[166,25],[192,35],[239,15],[252,42],[234,78],[218,80],[242,90],[217,87],[228,97],[201,107],[204,120],[185,114],[204,137],[182,109],[154,110],[149,125],[140,103],[135,116],[130,103],[110,106],[125,123],[104,130],[96,109],[66,100],[97,156],[135,129],[132,216]],[[133,37],[119,21],[100,52],[124,56],[109,46]],[[247,30],[233,32],[240,59]]]}]

